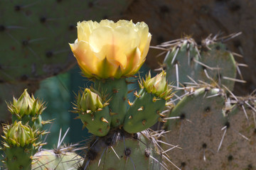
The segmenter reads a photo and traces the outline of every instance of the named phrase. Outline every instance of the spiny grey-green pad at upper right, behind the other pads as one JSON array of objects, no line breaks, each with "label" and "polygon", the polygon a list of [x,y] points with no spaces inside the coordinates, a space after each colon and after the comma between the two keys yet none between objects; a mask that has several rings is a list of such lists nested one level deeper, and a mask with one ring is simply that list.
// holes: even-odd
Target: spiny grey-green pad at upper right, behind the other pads
[{"label": "spiny grey-green pad at upper right, behind the other pads", "polygon": [[236,79],[237,64],[233,52],[220,42],[223,40],[217,35],[213,38],[208,36],[201,45],[197,45],[187,37],[159,45],[166,48],[163,67],[166,67],[167,79],[174,81],[176,86],[187,86],[198,80],[208,84],[215,81],[232,91],[234,81],[240,80]]}]

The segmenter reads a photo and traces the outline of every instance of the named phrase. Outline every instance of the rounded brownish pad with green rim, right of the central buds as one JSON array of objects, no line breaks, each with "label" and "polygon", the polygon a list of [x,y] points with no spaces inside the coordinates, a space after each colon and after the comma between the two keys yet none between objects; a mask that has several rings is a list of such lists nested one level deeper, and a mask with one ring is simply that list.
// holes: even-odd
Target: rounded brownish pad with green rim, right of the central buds
[{"label": "rounded brownish pad with green rim, right of the central buds", "polygon": [[211,169],[216,164],[218,158],[213,154],[223,147],[222,129],[228,127],[224,103],[223,90],[201,88],[183,97],[171,110],[166,142],[182,148],[169,152],[174,164],[182,169]]}]

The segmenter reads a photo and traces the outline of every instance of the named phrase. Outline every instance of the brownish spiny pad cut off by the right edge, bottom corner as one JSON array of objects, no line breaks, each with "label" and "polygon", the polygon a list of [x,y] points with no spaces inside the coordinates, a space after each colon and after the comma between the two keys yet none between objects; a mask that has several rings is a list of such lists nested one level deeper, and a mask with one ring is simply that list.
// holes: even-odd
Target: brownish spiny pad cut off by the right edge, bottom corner
[{"label": "brownish spiny pad cut off by the right edge, bottom corner", "polygon": [[256,98],[237,98],[235,106],[226,111],[230,128],[226,132],[220,152],[215,155],[219,158],[215,169],[256,169]]}]

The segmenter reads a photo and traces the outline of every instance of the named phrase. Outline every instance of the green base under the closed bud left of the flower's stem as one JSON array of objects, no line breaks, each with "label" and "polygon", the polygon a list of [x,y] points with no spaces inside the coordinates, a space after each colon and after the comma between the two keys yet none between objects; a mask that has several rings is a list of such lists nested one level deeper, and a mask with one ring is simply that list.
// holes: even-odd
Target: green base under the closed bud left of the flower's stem
[{"label": "green base under the closed bud left of the flower's stem", "polygon": [[111,116],[107,106],[102,108],[102,111],[79,113],[78,118],[82,120],[84,128],[87,128],[93,135],[105,136],[110,131]]}]

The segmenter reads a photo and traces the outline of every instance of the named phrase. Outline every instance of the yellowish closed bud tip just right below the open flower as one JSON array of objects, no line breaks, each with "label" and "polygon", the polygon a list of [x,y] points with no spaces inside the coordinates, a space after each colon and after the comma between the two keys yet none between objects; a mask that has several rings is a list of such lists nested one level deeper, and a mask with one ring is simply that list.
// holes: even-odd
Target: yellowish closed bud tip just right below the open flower
[{"label": "yellowish closed bud tip just right below the open flower", "polygon": [[168,86],[168,82],[166,81],[166,72],[164,72],[164,70],[153,78],[151,78],[151,74],[149,72],[146,80],[142,79],[142,82],[139,84],[141,84],[141,88],[145,88],[149,94],[155,94],[165,100],[168,100],[172,96],[172,89]]}]

